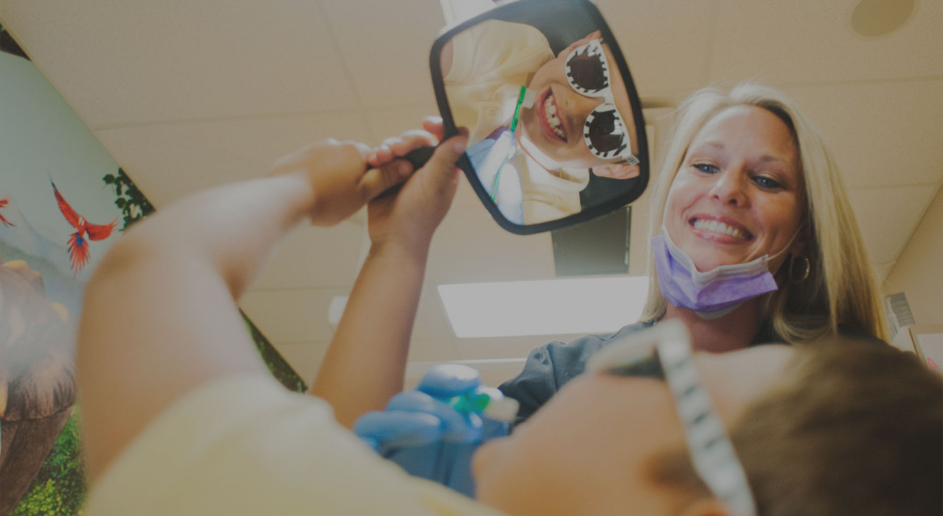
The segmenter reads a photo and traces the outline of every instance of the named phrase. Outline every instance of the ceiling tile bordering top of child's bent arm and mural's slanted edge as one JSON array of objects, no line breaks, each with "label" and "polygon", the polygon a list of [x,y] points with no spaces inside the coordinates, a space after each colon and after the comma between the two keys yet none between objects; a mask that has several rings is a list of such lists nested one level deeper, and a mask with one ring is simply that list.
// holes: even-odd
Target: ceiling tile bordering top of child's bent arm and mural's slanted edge
[{"label": "ceiling tile bordering top of child's bent arm and mural's slanted edge", "polygon": [[95,132],[156,205],[207,186],[262,176],[279,157],[326,137],[367,134],[356,114],[167,123]]}]

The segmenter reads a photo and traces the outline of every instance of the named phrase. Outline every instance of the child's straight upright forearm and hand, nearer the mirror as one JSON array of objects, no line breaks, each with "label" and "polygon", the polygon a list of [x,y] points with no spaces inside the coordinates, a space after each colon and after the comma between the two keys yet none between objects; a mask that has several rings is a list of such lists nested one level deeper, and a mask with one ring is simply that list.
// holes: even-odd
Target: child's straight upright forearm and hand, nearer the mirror
[{"label": "child's straight upright forearm and hand, nearer the mirror", "polygon": [[[441,121],[430,119],[423,127],[441,137]],[[371,250],[311,386],[345,427],[367,411],[382,410],[403,390],[429,243],[455,197],[454,164],[465,142],[462,137],[442,145],[395,196],[368,206]],[[390,147],[402,155],[410,145],[400,140]]]}]

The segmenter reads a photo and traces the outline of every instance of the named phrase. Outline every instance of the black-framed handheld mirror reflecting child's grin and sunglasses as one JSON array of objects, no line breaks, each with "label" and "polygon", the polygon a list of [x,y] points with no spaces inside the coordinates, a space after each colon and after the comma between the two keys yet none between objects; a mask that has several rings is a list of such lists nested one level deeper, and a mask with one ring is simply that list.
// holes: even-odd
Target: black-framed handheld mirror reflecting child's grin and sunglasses
[{"label": "black-framed handheld mirror reflecting child's grin and sunglasses", "polygon": [[586,0],[519,0],[447,28],[430,56],[459,167],[505,230],[550,231],[635,201],[649,178],[641,103]]}]

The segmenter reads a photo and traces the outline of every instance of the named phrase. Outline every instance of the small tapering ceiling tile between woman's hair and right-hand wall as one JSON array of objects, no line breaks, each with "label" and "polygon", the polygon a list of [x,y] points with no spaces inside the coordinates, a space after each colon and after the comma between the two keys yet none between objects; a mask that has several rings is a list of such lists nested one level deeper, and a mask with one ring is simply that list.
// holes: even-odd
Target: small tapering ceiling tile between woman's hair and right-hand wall
[{"label": "small tapering ceiling tile between woman's hair and right-hand wall", "polygon": [[852,189],[849,201],[871,260],[897,260],[939,185]]}]

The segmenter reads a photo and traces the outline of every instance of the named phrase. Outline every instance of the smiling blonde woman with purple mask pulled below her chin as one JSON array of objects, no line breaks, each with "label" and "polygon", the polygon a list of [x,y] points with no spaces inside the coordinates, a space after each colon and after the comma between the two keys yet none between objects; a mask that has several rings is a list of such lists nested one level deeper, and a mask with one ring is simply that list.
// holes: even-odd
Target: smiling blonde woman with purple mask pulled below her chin
[{"label": "smiling blonde woman with purple mask pulled below her chin", "polygon": [[886,337],[835,160],[781,92],[748,83],[692,94],[651,205],[641,322],[535,349],[501,387],[521,402],[519,421],[582,373],[594,351],[661,319],[681,319],[694,347],[711,352],[835,333]]}]

